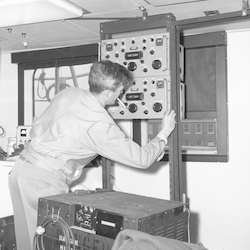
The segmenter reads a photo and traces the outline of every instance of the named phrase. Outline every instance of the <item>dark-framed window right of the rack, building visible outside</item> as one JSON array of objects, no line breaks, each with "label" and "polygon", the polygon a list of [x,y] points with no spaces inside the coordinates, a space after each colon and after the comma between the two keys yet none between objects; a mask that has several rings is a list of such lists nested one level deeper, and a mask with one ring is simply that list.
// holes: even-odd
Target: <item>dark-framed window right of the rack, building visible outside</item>
[{"label": "dark-framed window right of the rack, building visible outside", "polygon": [[182,37],[185,112],[180,131],[184,159],[228,161],[226,33]]}]

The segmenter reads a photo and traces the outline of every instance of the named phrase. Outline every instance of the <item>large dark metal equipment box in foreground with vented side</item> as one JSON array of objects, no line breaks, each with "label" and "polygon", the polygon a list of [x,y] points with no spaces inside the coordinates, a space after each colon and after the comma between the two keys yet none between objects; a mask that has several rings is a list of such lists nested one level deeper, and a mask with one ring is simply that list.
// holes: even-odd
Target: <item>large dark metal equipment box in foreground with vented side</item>
[{"label": "large dark metal equipment box in foreground with vented side", "polygon": [[135,194],[76,190],[39,199],[35,245],[109,250],[123,229],[188,240],[187,204]]}]

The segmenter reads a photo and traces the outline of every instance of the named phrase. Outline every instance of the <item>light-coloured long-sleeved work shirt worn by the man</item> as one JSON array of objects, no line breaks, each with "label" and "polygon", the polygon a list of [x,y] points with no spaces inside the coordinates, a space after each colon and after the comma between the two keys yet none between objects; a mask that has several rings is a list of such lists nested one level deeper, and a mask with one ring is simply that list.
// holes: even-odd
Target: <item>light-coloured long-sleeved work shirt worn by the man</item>
[{"label": "light-coloured long-sleeved work shirt worn by the man", "polygon": [[67,88],[58,93],[34,123],[29,152],[44,164],[74,176],[101,155],[135,168],[148,168],[161,155],[159,138],[140,146],[126,137],[89,91]]}]

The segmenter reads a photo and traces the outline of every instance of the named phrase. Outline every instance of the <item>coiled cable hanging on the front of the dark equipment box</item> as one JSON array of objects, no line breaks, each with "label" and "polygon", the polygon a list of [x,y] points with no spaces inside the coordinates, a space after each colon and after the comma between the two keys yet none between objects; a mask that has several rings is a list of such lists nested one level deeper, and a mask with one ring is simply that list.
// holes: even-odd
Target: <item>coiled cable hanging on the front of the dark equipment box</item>
[{"label": "coiled cable hanging on the front of the dark equipment box", "polygon": [[[43,243],[43,236],[44,236],[46,226],[48,226],[50,223],[56,223],[62,228],[63,234],[65,236],[65,249],[75,250],[75,238],[72,233],[72,230],[67,224],[67,222],[59,216],[59,212],[60,212],[60,209],[58,211],[57,216],[55,216],[54,214],[51,214],[48,217],[46,217],[46,219],[42,222],[42,224],[37,227],[35,236],[33,239],[33,250],[40,250],[40,249],[45,250],[44,243]],[[73,248],[71,247],[71,244],[73,245]]]}]

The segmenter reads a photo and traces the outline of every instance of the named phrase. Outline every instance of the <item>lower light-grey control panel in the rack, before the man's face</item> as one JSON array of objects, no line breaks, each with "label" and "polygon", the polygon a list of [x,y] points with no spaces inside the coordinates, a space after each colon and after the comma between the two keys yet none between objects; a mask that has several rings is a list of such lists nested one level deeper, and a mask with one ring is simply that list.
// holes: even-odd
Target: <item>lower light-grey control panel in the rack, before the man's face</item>
[{"label": "lower light-grey control panel in the rack, before the man's face", "polygon": [[160,119],[170,103],[170,79],[166,77],[135,78],[122,95],[121,102],[108,111],[115,119]]}]

